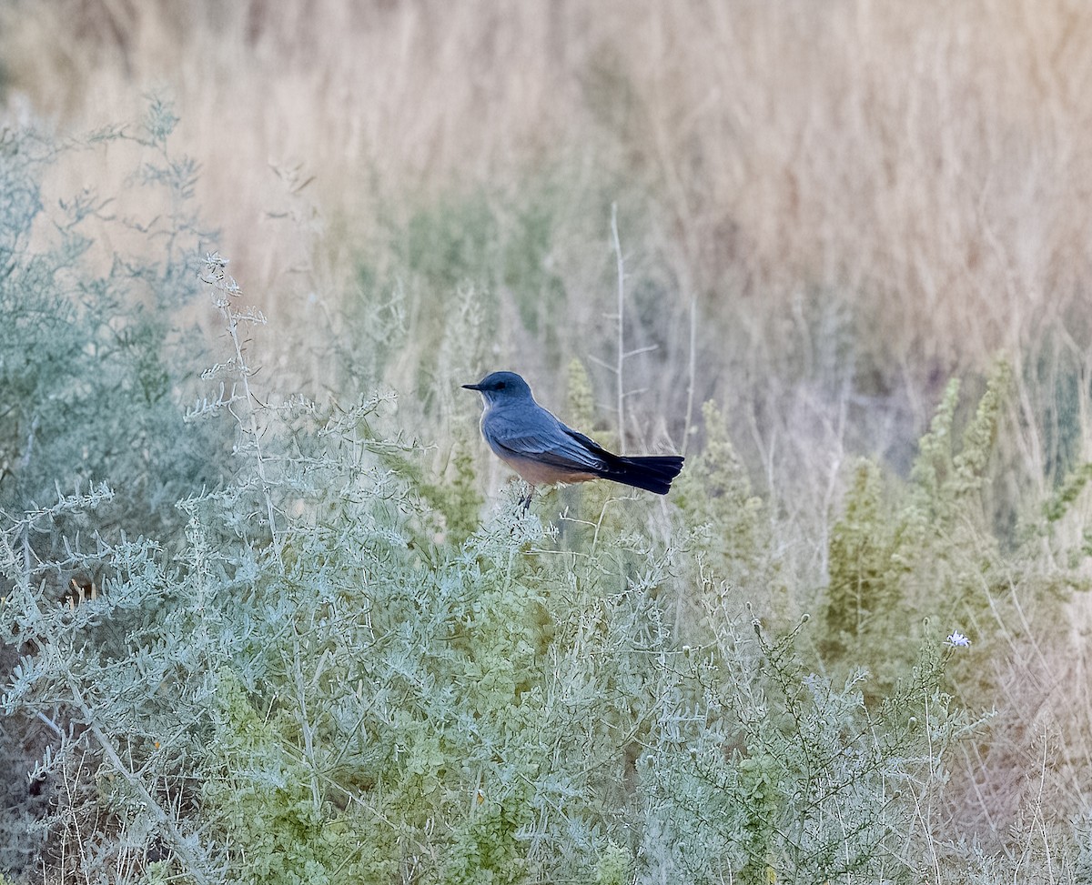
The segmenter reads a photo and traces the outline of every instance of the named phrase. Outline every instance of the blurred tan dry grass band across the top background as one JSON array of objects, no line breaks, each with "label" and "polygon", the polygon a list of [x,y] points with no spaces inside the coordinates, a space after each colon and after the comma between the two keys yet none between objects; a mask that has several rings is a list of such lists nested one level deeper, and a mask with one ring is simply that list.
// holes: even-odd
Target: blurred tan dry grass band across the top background
[{"label": "blurred tan dry grass band across the top background", "polygon": [[224,251],[263,287],[311,251],[270,229],[274,169],[314,176],[344,235],[320,268],[336,301],[349,238],[392,207],[565,162],[646,189],[631,250],[664,256],[674,311],[697,297],[760,363],[799,334],[802,301],[826,302],[852,318],[863,386],[887,392],[898,367],[919,418],[938,381],[999,349],[1087,343],[1079,2],[84,0],[15,3],[3,33],[9,95],[67,123],[166,85]]}]

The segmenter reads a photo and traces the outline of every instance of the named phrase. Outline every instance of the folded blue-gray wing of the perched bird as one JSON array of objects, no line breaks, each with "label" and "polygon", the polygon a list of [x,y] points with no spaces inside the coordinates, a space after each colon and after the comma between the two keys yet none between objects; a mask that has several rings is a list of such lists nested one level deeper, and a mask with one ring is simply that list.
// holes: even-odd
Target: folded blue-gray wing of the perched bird
[{"label": "folded blue-gray wing of the perched bird", "polygon": [[483,428],[501,457],[529,458],[572,470],[602,469],[607,453],[545,409],[495,410]]}]

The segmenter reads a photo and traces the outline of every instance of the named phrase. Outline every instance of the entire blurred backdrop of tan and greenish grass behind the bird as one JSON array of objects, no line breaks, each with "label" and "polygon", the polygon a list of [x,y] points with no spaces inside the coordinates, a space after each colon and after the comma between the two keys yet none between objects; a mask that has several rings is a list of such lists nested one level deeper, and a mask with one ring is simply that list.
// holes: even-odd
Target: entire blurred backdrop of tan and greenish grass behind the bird
[{"label": "entire blurred backdrop of tan and greenish grass behind the bird", "polygon": [[[563,412],[575,357],[585,429],[619,432],[595,361],[615,357],[616,204],[626,339],[655,347],[626,367],[626,444],[702,451],[717,403],[805,584],[828,581],[856,457],[906,476],[953,376],[973,404],[1012,367],[983,492],[1004,541],[1089,461],[1078,0],[0,4],[3,125],[114,125],[149,93],[200,164],[210,248],[270,315],[268,392],[381,382],[442,441],[468,435],[458,385],[489,369]],[[135,211],[127,150],[66,155],[47,192]],[[1037,550],[1087,579],[1090,502],[1069,503]],[[1034,608],[1032,583],[1005,589]],[[964,823],[1001,840],[1036,791],[1089,808],[1089,606],[1048,610],[989,660],[1007,715],[968,751]]]}]

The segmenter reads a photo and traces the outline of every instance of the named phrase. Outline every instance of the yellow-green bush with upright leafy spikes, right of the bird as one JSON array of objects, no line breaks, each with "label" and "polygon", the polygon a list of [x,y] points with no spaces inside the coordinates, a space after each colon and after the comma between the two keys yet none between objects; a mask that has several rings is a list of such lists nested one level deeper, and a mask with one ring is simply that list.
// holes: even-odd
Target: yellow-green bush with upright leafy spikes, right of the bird
[{"label": "yellow-green bush with upright leafy spikes, right of the bird", "polygon": [[820,648],[831,663],[865,667],[878,686],[891,686],[913,660],[926,617],[987,629],[997,605],[990,585],[1011,579],[981,493],[1009,384],[1000,362],[959,447],[960,385],[948,385],[909,486],[885,483],[875,464],[858,464],[828,548]]}]

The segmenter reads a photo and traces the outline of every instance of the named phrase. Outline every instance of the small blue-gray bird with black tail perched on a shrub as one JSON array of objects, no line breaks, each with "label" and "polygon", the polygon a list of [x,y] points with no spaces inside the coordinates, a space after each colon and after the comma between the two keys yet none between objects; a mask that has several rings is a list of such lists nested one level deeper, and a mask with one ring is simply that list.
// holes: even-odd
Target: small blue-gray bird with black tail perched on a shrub
[{"label": "small blue-gray bird with black tail perched on a shrub", "polygon": [[531,486],[608,479],[656,494],[667,494],[682,469],[681,455],[627,457],[608,452],[595,440],[561,423],[535,402],[531,387],[515,372],[492,372],[477,384],[482,394],[482,435],[502,462]]}]

